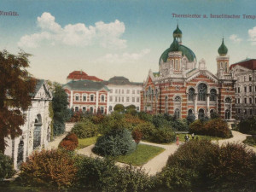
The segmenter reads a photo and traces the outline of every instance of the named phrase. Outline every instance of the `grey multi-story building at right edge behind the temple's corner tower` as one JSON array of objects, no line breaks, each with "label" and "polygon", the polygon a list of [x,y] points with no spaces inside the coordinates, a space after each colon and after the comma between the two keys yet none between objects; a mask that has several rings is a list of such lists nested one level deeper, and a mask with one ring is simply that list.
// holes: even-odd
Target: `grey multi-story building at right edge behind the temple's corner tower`
[{"label": "grey multi-story building at right edge behind the temple's corner tower", "polygon": [[235,84],[238,119],[256,115],[256,59],[246,59],[230,66]]}]

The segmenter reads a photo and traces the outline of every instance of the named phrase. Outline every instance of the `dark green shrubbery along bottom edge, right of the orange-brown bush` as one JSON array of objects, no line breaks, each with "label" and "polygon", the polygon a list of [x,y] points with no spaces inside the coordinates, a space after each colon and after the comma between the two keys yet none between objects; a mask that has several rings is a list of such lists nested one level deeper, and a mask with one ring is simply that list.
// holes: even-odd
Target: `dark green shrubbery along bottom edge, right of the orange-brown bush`
[{"label": "dark green shrubbery along bottom edge, right of the orange-brown bush", "polygon": [[97,191],[148,191],[154,179],[133,166],[120,168],[113,160],[83,157],[79,163],[79,189]]}]

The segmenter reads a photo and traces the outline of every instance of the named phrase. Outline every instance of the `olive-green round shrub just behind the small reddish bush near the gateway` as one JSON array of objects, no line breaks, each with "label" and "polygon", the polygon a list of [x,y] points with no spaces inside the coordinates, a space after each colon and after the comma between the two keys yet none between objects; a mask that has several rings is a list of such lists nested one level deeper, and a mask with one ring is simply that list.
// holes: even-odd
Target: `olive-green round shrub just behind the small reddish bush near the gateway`
[{"label": "olive-green round shrub just behind the small reddish bush near the gateway", "polygon": [[90,120],[84,119],[73,126],[72,132],[79,138],[95,137],[98,134],[98,128]]}]

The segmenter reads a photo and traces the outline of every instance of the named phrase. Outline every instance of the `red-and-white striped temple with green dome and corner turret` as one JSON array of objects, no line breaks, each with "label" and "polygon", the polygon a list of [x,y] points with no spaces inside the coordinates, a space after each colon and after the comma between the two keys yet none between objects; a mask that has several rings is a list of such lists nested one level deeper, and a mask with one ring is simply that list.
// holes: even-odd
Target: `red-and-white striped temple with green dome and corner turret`
[{"label": "red-and-white striped temple with green dome and corner turret", "polygon": [[159,72],[148,72],[141,92],[141,109],[149,113],[169,113],[196,118],[216,112],[223,119],[233,119],[235,112],[234,74],[230,72],[228,49],[222,44],[216,58],[218,71],[207,71],[206,61],[199,67],[194,52],[182,44],[182,32],[173,32],[173,42],[160,56]]}]

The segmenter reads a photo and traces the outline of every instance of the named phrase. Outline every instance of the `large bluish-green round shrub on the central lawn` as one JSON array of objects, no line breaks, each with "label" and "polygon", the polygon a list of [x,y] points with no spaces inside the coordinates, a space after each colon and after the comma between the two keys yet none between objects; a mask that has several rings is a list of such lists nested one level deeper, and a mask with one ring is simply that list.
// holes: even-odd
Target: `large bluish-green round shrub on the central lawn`
[{"label": "large bluish-green round shrub on the central lawn", "polygon": [[118,156],[130,154],[136,149],[136,143],[131,137],[131,131],[112,130],[102,137],[98,137],[93,152],[103,156]]}]

